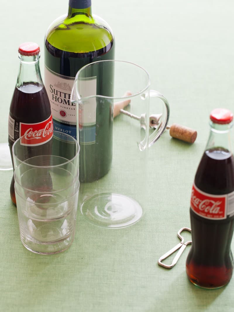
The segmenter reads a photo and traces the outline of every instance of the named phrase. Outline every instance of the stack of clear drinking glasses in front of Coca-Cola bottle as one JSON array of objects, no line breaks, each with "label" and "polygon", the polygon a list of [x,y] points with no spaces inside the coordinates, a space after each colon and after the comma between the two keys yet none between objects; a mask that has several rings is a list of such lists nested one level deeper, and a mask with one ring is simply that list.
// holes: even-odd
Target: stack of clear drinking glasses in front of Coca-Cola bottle
[{"label": "stack of clear drinking glasses in front of Coca-Cola bottle", "polygon": [[[46,132],[34,132],[31,137]],[[46,144],[30,146],[26,140],[30,140],[28,134],[12,147],[21,241],[35,253],[64,251],[75,234],[79,144],[56,131]]]}]

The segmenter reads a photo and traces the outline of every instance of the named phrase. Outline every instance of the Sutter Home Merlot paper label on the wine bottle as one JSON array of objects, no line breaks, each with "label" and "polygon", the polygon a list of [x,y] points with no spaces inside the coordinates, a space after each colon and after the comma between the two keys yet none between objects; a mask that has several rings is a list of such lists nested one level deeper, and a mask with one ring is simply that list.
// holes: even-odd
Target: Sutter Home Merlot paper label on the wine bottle
[{"label": "Sutter Home Merlot paper label on the wine bottle", "polygon": [[[45,89],[50,100],[50,107],[55,131],[69,134],[76,138],[77,108],[71,102],[71,90],[74,77],[63,76],[45,66]],[[78,81],[81,97],[96,95],[97,78],[89,77]],[[79,104],[79,143],[93,144],[96,136],[96,98],[85,104]]]}]

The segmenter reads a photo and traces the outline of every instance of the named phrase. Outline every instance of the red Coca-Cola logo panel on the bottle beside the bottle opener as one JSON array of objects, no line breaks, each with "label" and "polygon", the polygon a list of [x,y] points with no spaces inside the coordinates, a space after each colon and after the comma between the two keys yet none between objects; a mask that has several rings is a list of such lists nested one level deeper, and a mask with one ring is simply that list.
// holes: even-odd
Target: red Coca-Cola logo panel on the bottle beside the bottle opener
[{"label": "red Coca-Cola logo panel on the bottle beside the bottle opener", "polygon": [[194,184],[191,194],[191,208],[207,219],[226,219],[226,195],[212,195],[199,190]]}]

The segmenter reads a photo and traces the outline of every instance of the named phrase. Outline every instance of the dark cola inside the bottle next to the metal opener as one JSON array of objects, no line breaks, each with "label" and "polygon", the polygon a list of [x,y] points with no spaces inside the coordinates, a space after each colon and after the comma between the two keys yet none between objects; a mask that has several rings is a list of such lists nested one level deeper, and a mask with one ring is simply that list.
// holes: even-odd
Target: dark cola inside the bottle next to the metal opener
[{"label": "dark cola inside the bottle next to the metal opener", "polygon": [[[210,149],[203,154],[195,176],[195,185],[209,194],[234,191],[234,159],[227,150]],[[190,208],[192,247],[186,261],[189,280],[200,287],[218,288],[232,277],[233,257],[230,249],[234,216],[210,220]]]}]

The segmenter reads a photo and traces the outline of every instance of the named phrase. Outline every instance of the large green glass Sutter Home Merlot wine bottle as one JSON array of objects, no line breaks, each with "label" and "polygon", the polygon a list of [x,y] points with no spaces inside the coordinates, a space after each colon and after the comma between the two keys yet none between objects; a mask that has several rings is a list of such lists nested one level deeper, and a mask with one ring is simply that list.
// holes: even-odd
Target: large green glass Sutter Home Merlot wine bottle
[{"label": "large green glass Sutter Home Merlot wine bottle", "polygon": [[[114,59],[114,52],[112,30],[103,19],[92,15],[91,0],[69,0],[68,14],[56,19],[45,35],[44,81],[55,131],[76,138],[76,105],[70,99],[75,75],[86,64]],[[93,88],[93,95],[100,94],[100,88],[93,79],[95,77],[86,81],[89,92],[92,94]],[[107,95],[112,95],[111,90],[106,92]],[[84,136],[79,131],[81,182],[101,178],[108,172],[112,162],[112,121],[109,108],[100,107],[97,103],[95,110],[96,120],[88,125],[90,135]],[[98,163],[100,155],[102,160]]]}]

